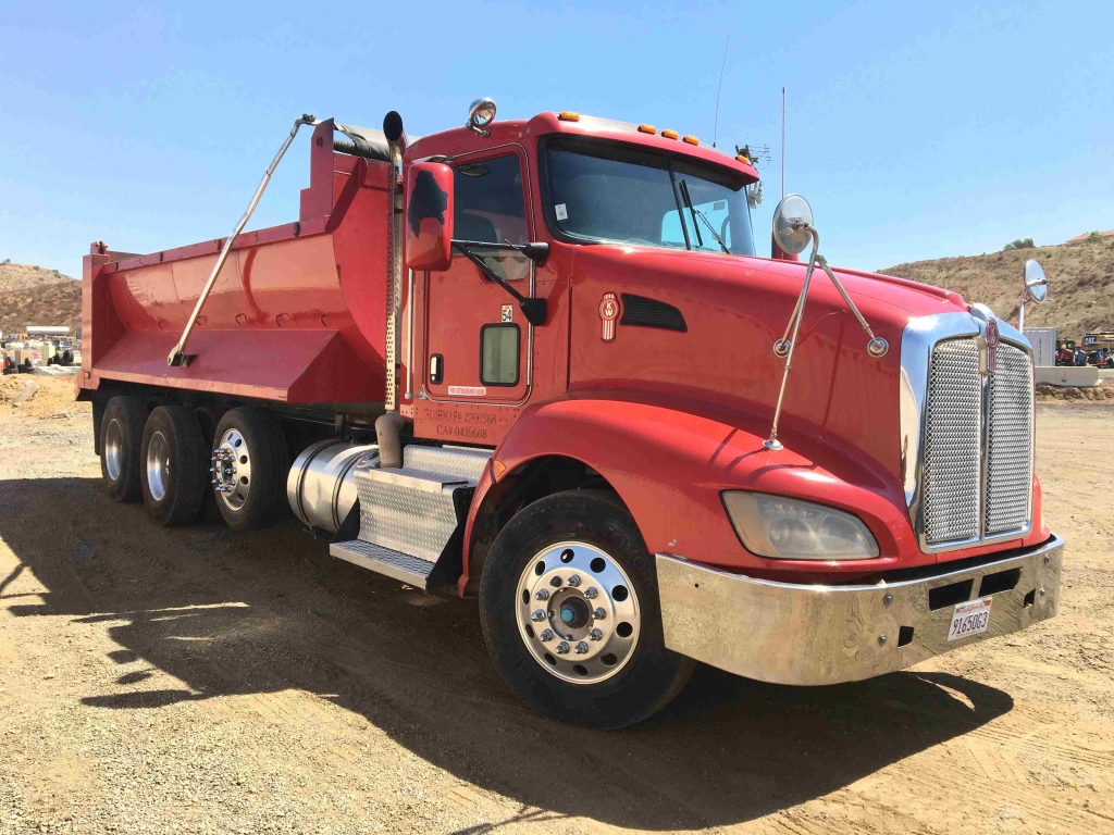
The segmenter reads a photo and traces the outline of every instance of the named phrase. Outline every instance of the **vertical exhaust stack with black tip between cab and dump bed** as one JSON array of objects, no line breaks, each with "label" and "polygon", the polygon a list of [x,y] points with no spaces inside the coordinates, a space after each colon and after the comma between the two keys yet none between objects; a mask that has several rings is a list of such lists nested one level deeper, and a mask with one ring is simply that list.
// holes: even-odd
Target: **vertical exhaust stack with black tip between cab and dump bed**
[{"label": "vertical exhaust stack with black tip between cab and dump bed", "polygon": [[399,414],[399,311],[402,301],[402,155],[407,151],[407,134],[402,117],[391,110],[383,117],[391,158],[389,174],[390,198],[388,206],[387,245],[387,414],[375,421],[375,435],[380,448],[380,465],[384,469],[402,466],[402,415]]}]

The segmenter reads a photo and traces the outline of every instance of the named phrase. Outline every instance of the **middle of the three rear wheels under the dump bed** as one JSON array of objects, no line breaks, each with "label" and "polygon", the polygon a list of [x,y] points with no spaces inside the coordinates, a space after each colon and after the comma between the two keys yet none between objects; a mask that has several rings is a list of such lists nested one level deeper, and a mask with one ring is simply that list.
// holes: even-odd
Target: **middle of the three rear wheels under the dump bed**
[{"label": "middle of the three rear wheels under the dump bed", "polygon": [[186,406],[159,406],[147,418],[140,484],[147,513],[164,527],[197,520],[208,487],[205,439]]}]

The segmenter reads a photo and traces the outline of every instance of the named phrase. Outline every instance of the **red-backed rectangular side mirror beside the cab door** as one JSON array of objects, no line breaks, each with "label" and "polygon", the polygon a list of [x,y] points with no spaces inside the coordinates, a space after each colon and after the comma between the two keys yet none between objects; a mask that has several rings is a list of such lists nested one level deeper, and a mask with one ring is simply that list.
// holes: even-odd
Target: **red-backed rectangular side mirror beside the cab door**
[{"label": "red-backed rectangular side mirror beside the cab door", "polygon": [[414,163],[407,171],[407,266],[443,273],[452,264],[452,169]]}]

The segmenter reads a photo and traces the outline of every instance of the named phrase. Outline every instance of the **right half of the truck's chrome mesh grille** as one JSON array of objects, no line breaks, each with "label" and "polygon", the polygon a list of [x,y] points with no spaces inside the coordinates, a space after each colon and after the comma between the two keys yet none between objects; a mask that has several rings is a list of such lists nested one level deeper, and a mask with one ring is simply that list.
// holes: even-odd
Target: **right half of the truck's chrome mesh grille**
[{"label": "right half of the truck's chrome mesh grille", "polygon": [[998,346],[987,409],[986,536],[1028,527],[1033,484],[1033,364],[1013,345]]}]

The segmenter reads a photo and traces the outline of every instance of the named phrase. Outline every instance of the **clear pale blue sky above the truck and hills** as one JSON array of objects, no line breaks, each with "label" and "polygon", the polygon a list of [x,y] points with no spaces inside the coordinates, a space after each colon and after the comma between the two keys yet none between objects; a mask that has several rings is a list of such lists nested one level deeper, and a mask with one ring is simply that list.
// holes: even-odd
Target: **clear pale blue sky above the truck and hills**
[{"label": "clear pale blue sky above the truck and hills", "polygon": [[[412,16],[412,17],[411,17]],[[0,0],[0,259],[227,234],[293,118],[411,134],[492,96],[769,145],[846,266],[1114,228],[1114,4]],[[296,218],[300,138],[252,227]],[[760,239],[765,239],[761,235]]]}]

